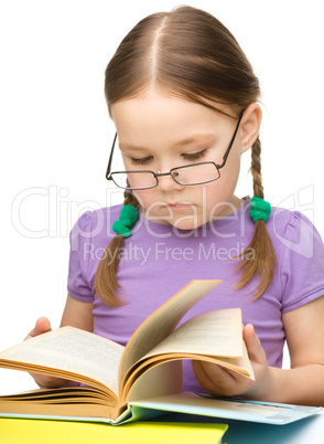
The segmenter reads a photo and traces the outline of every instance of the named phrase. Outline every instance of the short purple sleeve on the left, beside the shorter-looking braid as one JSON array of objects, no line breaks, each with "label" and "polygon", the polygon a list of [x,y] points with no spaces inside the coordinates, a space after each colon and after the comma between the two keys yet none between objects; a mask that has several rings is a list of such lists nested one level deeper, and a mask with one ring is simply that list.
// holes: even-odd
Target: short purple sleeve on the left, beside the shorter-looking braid
[{"label": "short purple sleeve on the left, beside the shorter-looking braid", "polygon": [[90,284],[87,279],[87,256],[83,254],[84,244],[91,237],[91,215],[84,213],[69,233],[69,264],[67,292],[75,299],[93,302]]}]

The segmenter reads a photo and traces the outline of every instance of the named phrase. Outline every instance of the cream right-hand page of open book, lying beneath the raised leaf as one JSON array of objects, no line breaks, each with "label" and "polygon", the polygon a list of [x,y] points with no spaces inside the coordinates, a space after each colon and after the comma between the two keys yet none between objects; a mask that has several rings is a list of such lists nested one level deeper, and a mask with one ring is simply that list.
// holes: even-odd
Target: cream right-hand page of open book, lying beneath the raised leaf
[{"label": "cream right-hand page of open book, lying beneath the raised leaf", "polygon": [[241,358],[241,326],[239,308],[207,311],[180,326],[142,359],[163,353]]}]

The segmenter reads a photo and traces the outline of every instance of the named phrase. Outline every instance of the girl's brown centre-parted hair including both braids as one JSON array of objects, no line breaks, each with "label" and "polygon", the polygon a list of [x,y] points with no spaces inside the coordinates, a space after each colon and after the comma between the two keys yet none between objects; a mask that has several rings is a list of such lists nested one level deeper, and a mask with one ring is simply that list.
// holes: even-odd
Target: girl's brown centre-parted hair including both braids
[{"label": "girl's brown centre-parted hair including both braids", "polygon": [[[106,70],[105,95],[110,116],[111,105],[140,95],[150,85],[220,113],[224,112],[217,109],[217,103],[241,110],[260,96],[259,81],[233,34],[209,13],[191,7],[149,15],[122,40]],[[258,138],[252,146],[251,172],[253,193],[263,198],[260,150]],[[138,205],[129,191],[125,203]],[[116,235],[107,249],[114,254],[122,245],[123,237]],[[256,261],[248,258],[251,247]],[[239,256],[238,287],[245,286],[257,273],[260,283],[256,297],[259,297],[272,279],[276,263],[263,221],[256,223],[248,249]],[[115,294],[119,286],[118,258],[109,264],[108,258],[105,260],[109,256],[104,254],[99,263],[96,292],[106,304],[120,305]]]}]

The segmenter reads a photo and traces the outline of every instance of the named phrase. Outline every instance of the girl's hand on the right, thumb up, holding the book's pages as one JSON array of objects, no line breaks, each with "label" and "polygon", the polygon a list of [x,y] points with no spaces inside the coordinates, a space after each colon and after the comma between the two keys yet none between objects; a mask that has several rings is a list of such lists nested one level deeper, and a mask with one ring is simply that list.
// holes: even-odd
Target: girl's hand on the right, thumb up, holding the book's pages
[{"label": "girl's hand on the right, thumb up, holding the book's pages", "polygon": [[255,371],[256,381],[212,362],[193,361],[193,369],[203,389],[217,397],[244,395],[266,399],[270,391],[270,368],[261,342],[251,324],[244,328],[242,336]]}]

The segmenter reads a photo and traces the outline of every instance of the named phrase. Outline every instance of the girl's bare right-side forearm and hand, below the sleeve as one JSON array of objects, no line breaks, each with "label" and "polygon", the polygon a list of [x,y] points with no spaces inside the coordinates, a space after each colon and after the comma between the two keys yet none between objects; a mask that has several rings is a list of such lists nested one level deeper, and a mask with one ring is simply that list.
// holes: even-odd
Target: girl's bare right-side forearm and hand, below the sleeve
[{"label": "girl's bare right-side forearm and hand, below the sleeve", "polygon": [[242,395],[293,404],[324,404],[324,296],[282,315],[291,369],[268,367],[266,353],[251,325],[244,337],[256,381],[208,362],[194,362],[197,380],[209,393]]}]

